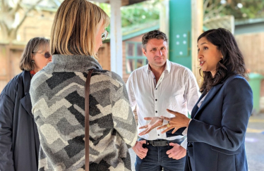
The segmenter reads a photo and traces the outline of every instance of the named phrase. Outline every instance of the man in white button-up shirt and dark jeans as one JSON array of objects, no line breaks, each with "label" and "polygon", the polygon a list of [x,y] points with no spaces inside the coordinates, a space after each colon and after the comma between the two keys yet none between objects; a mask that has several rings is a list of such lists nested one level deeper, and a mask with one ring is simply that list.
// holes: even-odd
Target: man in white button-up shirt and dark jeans
[{"label": "man in white button-up shirt and dark jeans", "polygon": [[[150,121],[144,118],[161,115],[173,117],[167,108],[188,115],[198,101],[200,93],[196,79],[188,68],[172,63],[167,59],[167,36],[154,30],[144,34],[143,53],[148,65],[134,70],[126,83],[131,108],[138,114],[138,132]],[[165,122],[165,121],[162,121]],[[184,170],[186,139],[179,135],[166,137],[162,130],[152,129],[148,134],[140,135],[135,151],[136,171],[139,170]]]}]

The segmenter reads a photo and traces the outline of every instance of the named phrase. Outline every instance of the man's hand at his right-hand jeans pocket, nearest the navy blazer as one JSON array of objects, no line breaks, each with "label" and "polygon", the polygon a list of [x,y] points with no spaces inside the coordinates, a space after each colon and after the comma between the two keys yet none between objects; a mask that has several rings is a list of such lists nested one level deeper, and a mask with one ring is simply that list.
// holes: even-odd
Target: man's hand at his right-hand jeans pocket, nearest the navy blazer
[{"label": "man's hand at his right-hand jeans pocket, nearest the navy blazer", "polygon": [[186,149],[179,144],[169,143],[169,146],[173,146],[172,149],[168,150],[166,153],[169,158],[179,160],[186,156]]}]

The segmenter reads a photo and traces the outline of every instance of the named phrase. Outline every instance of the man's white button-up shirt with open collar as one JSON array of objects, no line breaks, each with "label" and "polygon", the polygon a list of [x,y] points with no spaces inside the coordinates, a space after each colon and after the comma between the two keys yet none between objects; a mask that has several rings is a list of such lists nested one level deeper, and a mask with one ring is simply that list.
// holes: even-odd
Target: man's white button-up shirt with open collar
[{"label": "man's white button-up shirt with open collar", "polygon": [[[152,71],[148,65],[134,70],[128,78],[126,89],[128,90],[128,98],[131,108],[138,114],[138,127],[147,125],[148,120],[145,117],[174,117],[167,112],[170,110],[183,113],[188,116],[193,106],[200,96],[198,84],[193,72],[188,68],[172,63],[167,60],[166,67],[155,87]],[[142,132],[143,129],[138,129]],[[162,134],[162,129],[152,129],[143,139],[180,139],[182,136],[167,137]]]}]

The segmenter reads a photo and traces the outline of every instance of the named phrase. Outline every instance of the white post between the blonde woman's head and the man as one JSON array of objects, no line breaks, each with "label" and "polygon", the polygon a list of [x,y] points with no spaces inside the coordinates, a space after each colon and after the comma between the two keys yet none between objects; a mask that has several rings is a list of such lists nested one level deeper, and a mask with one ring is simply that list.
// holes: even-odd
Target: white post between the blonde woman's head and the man
[{"label": "white post between the blonde woman's head and the man", "polygon": [[121,0],[110,0],[111,5],[111,70],[123,76]]}]

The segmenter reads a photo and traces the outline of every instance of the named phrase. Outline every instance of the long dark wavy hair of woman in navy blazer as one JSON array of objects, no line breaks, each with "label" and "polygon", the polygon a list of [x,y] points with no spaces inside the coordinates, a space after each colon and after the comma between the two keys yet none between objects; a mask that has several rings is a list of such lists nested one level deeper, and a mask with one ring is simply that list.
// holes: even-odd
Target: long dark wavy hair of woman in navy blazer
[{"label": "long dark wavy hair of woman in navy blazer", "polygon": [[215,77],[212,77],[211,72],[205,72],[200,68],[200,76],[203,77],[200,92],[208,92],[213,86],[223,82],[230,75],[241,75],[242,77],[246,77],[244,57],[231,32],[224,28],[208,30],[200,34],[197,42],[202,37],[205,37],[209,42],[217,46],[223,58],[217,63]]}]

